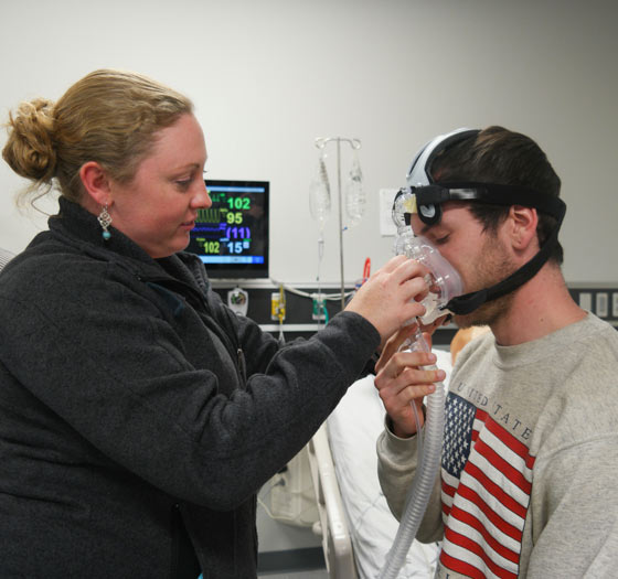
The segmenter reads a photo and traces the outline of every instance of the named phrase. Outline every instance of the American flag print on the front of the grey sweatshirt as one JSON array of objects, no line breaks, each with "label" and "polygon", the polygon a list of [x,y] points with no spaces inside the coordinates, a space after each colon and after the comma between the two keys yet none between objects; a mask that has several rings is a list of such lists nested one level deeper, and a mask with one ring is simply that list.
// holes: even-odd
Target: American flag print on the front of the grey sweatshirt
[{"label": "American flag print on the front of the grey sweatshirt", "polygon": [[518,577],[533,465],[522,441],[449,393],[441,464],[444,567],[473,578]]}]

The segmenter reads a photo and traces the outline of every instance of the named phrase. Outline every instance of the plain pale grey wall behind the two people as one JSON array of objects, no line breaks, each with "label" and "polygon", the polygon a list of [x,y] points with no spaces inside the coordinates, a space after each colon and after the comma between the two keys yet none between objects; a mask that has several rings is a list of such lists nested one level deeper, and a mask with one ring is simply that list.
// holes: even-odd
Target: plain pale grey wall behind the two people
[{"label": "plain pale grey wall behind the two people", "polygon": [[[352,281],[366,256],[374,268],[391,257],[392,238],[379,233],[377,191],[402,185],[414,152],[436,133],[490,124],[536,139],[563,179],[567,281],[618,278],[610,180],[618,151],[618,8],[611,1],[0,6],[2,119],[21,99],[57,98],[104,66],[137,69],[187,93],[204,127],[210,176],[271,182],[278,281],[317,276],[318,233],[307,202],[316,137],[363,143],[367,212],[344,234],[344,277]],[[328,152],[334,185],[334,147]],[[349,161],[344,149],[344,178]],[[35,212],[14,210],[20,186],[0,163],[0,246],[14,251],[45,227]],[[327,224],[324,281],[340,276],[335,222],[333,214]]]}]

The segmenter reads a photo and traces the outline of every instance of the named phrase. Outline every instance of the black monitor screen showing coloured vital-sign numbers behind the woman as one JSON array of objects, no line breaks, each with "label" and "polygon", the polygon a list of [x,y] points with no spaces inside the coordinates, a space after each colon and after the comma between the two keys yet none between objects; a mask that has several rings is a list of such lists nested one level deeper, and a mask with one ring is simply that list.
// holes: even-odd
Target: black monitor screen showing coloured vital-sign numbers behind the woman
[{"label": "black monitor screen showing coloured vital-sign numbers behind the woman", "polygon": [[212,206],[199,211],[187,250],[211,278],[267,278],[268,181],[205,183]]}]

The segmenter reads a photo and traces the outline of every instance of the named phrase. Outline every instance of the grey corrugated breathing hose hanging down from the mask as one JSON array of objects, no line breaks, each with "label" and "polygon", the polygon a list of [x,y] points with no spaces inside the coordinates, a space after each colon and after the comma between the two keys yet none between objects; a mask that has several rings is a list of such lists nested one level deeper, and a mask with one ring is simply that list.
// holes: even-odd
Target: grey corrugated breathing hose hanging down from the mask
[{"label": "grey corrugated breathing hose hanging down from the mask", "polygon": [[[428,352],[425,339],[417,332],[415,336],[417,349]],[[436,369],[436,366],[425,366],[425,369]],[[420,521],[427,510],[434,483],[440,469],[443,450],[443,435],[445,422],[446,394],[440,383],[436,384],[434,394],[427,396],[427,419],[425,422],[425,441],[423,453],[418,454],[418,464],[412,485],[408,489],[404,513],[397,529],[397,535],[391,550],[386,555],[384,566],[380,570],[379,579],[395,579],[405,562],[405,558]],[[414,401],[412,403],[415,407]]]}]

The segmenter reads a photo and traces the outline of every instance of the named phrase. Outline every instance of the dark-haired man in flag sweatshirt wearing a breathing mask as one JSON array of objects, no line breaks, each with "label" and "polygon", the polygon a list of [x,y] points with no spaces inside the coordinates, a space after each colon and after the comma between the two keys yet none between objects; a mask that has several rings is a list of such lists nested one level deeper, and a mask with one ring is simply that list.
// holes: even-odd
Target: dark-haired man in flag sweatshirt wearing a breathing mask
[{"label": "dark-haired man in flag sweatshirt wearing a breathing mask", "polygon": [[[460,274],[447,308],[491,332],[459,355],[441,473],[417,538],[443,540],[437,577],[618,575],[618,333],[582,310],[561,271],[560,179],[501,127],[429,143],[408,175],[408,218]],[[375,385],[387,412],[379,474],[399,517],[420,405],[440,379],[390,343]]]}]

